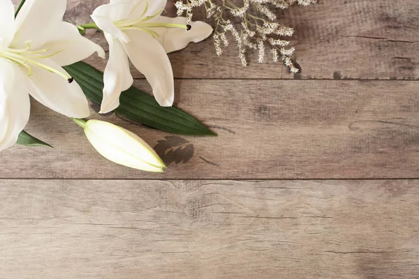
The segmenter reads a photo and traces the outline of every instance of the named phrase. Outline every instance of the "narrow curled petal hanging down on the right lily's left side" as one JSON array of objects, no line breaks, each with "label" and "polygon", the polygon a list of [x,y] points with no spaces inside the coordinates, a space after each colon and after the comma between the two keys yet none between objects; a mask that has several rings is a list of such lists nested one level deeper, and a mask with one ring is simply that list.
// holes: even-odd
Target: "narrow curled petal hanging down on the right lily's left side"
[{"label": "narrow curled petal hanging down on the right lily's left side", "polygon": [[100,113],[115,110],[119,106],[121,92],[133,85],[133,76],[124,45],[110,34],[105,34],[105,38],[109,43],[109,61],[103,75],[105,86]]}]

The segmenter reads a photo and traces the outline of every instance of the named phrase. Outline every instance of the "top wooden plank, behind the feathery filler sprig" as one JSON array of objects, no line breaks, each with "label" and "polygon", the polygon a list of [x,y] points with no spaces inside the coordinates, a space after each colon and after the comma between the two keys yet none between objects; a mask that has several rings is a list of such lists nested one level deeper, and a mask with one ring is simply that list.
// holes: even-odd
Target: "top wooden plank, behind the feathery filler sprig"
[{"label": "top wooden plank, behind the feathery filler sprig", "polygon": [[[78,24],[106,0],[72,0],[66,19]],[[175,1],[172,1],[175,2]],[[175,15],[172,3],[169,15]],[[257,63],[243,69],[234,45],[216,57],[212,38],[191,44],[170,54],[177,78],[304,78],[304,79],[419,79],[419,1],[418,0],[322,0],[316,5],[293,6],[279,11],[279,22],[295,29],[292,38],[300,75],[291,75],[280,63]],[[196,19],[206,20],[196,13]],[[94,37],[107,50],[101,33]],[[104,68],[105,61],[89,63]],[[133,69],[135,77],[142,77]]]}]

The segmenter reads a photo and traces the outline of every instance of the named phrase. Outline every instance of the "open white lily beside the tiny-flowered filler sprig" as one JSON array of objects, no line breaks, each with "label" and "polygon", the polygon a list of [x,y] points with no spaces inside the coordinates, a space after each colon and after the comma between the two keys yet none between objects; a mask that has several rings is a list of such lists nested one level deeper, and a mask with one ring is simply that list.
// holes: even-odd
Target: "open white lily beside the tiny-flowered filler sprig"
[{"label": "open white lily beside the tiny-flowered filler sprig", "polygon": [[185,17],[161,16],[166,2],[111,0],[91,15],[110,47],[101,113],[115,110],[121,92],[133,84],[128,57],[147,78],[157,102],[163,107],[173,105],[173,73],[166,53],[204,40],[212,33],[212,27],[205,22],[191,22],[186,26]]}]

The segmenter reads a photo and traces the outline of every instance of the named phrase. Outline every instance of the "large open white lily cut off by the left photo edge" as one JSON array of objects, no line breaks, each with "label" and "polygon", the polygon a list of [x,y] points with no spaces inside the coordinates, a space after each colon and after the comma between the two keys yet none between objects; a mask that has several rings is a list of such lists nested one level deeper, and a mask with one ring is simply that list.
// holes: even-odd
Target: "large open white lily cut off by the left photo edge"
[{"label": "large open white lily cut off by the left photo edge", "polygon": [[82,89],[61,66],[105,54],[62,21],[66,3],[27,0],[15,19],[12,1],[0,0],[0,150],[15,144],[27,125],[28,93],[66,116],[89,115]]}]

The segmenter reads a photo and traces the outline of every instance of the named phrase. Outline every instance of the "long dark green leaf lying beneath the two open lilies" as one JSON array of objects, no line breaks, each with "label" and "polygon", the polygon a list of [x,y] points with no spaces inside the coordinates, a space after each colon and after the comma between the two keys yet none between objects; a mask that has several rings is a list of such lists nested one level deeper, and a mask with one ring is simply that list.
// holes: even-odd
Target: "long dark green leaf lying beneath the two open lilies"
[{"label": "long dark green leaf lying beneath the two open lilies", "polygon": [[[64,67],[83,89],[86,97],[101,104],[103,97],[103,73],[87,63],[78,62]],[[212,132],[193,116],[177,107],[161,107],[153,96],[131,86],[119,98],[116,114],[145,126],[179,135],[212,135]]]}]

